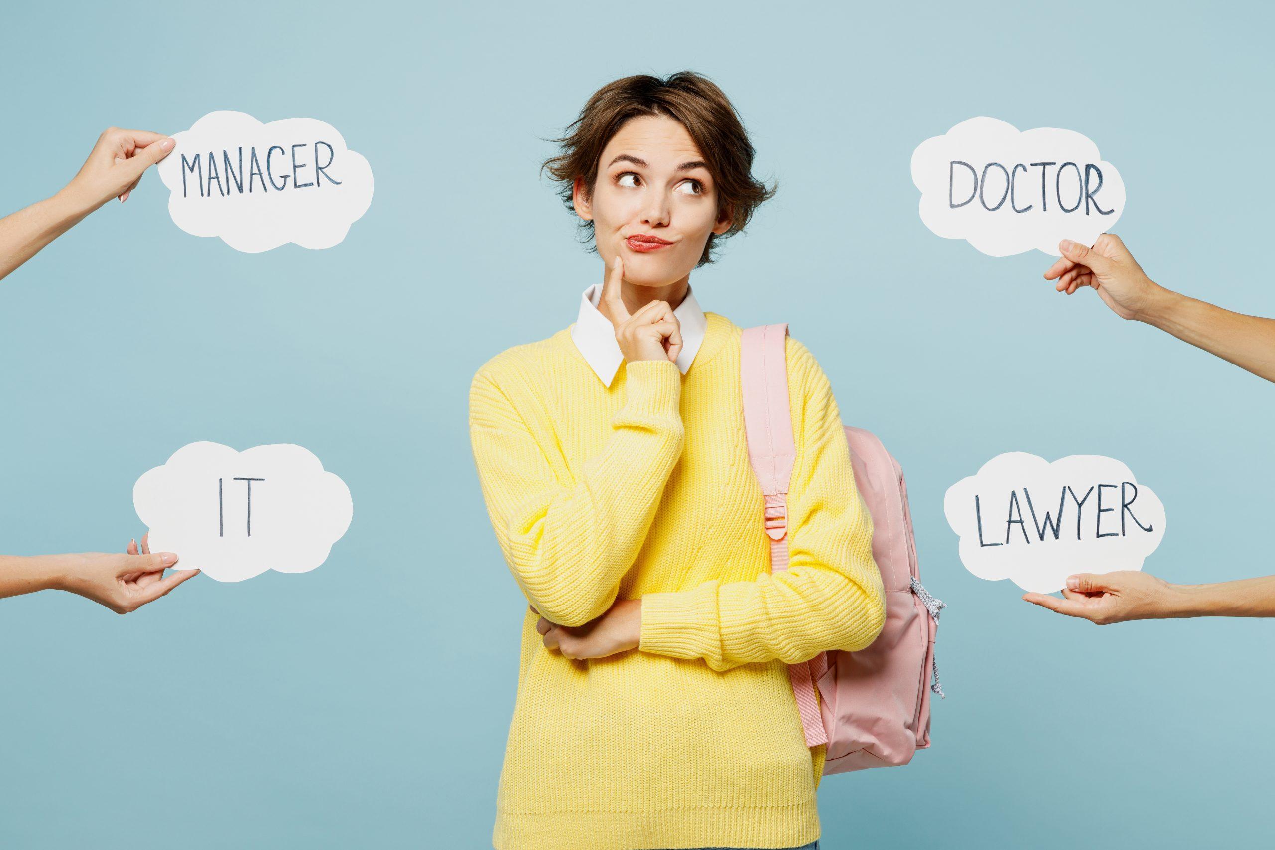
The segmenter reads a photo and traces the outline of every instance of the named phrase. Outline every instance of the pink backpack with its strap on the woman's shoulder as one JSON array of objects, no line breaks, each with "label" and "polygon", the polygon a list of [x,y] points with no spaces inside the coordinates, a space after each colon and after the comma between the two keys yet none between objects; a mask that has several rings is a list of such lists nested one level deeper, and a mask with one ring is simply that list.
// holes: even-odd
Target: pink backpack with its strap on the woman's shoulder
[{"label": "pink backpack with its strap on the woman's shoulder", "polygon": [[[788,486],[797,447],[788,401],[788,324],[741,338],[748,459],[765,494],[771,573],[788,568]],[[872,516],[872,557],[885,584],[881,635],[858,652],[831,650],[788,666],[806,746],[827,744],[824,775],[907,765],[929,747],[929,693],[943,696],[935,664],[938,601],[921,585],[903,469],[881,441],[845,428],[854,482]],[[935,683],[926,687],[929,672]],[[816,707],[815,688],[820,700]]]}]

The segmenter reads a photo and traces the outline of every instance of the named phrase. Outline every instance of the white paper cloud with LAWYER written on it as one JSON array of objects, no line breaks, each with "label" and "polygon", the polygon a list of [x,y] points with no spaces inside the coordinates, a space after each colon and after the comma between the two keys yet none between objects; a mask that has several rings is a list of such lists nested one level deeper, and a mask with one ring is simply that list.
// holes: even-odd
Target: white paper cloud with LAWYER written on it
[{"label": "white paper cloud with LAWYER written on it", "polygon": [[943,514],[966,570],[1037,593],[1077,572],[1141,570],[1164,537],[1159,497],[1102,455],[997,455],[947,489]]}]

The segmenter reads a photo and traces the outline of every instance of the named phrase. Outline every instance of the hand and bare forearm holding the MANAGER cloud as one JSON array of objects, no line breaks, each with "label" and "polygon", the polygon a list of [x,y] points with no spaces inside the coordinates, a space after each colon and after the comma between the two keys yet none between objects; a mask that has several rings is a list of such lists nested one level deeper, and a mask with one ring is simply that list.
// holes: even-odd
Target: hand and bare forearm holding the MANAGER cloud
[{"label": "hand and bare forearm holding the MANAGER cloud", "polygon": [[145,169],[167,157],[172,147],[172,139],[158,133],[106,130],[61,191],[0,218],[0,279],[106,201],[126,201]]}]

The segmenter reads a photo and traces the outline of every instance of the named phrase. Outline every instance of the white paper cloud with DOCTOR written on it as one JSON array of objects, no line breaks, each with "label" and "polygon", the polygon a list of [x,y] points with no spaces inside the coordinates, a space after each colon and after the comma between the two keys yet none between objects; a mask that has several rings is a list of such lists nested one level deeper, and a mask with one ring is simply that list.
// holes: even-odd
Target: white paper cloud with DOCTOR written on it
[{"label": "white paper cloud with DOCTOR written on it", "polygon": [[1060,241],[1093,245],[1125,210],[1125,181],[1088,138],[987,116],[922,141],[912,182],[926,227],[991,256],[1060,256]]}]

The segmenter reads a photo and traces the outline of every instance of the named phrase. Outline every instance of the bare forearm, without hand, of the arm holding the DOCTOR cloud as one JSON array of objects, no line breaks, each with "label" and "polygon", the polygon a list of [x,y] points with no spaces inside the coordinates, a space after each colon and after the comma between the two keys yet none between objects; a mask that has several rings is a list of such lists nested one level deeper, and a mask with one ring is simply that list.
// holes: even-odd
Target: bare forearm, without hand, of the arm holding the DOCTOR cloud
[{"label": "bare forearm, without hand, of the arm holding the DOCTOR cloud", "polygon": [[1275,319],[1232,312],[1164,288],[1158,288],[1139,319],[1275,381]]}]

